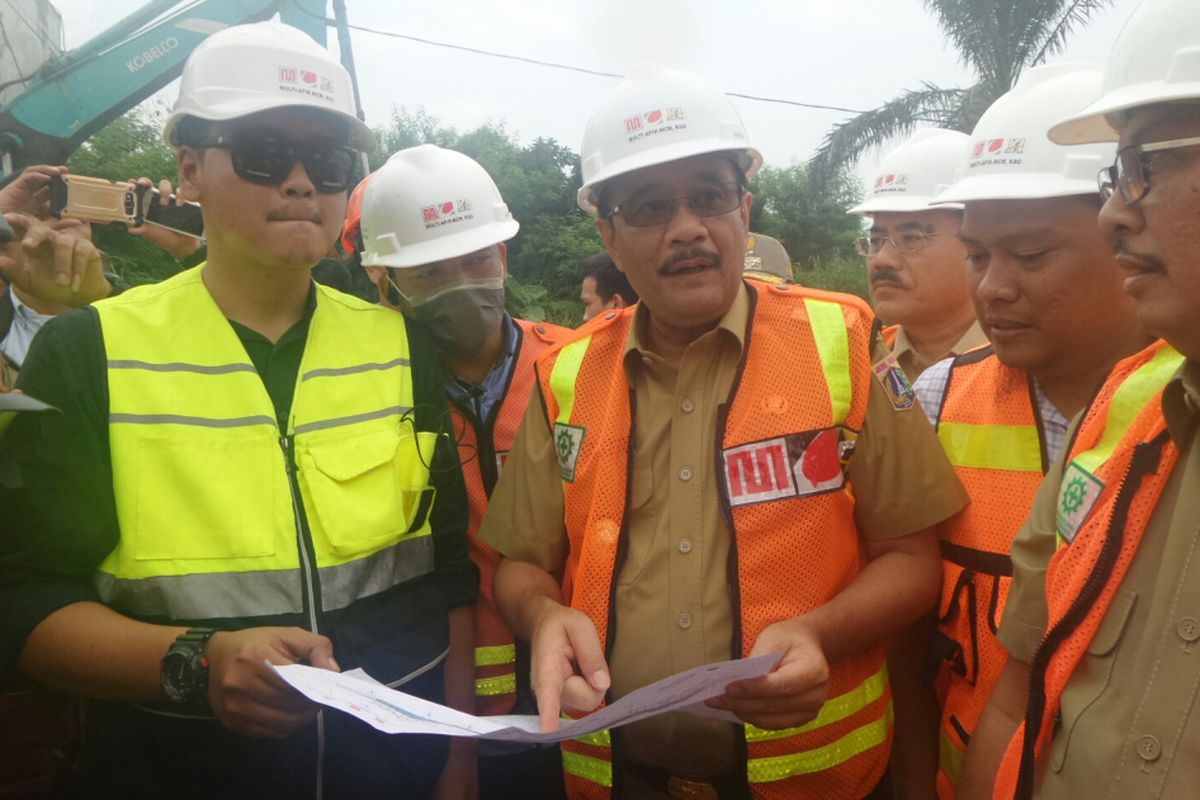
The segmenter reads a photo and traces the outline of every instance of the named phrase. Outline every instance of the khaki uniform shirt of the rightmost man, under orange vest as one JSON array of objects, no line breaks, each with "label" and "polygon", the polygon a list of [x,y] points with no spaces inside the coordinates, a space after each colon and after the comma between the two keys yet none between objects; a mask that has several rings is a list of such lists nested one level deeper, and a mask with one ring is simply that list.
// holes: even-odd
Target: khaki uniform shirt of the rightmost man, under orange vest
[{"label": "khaki uniform shirt of the rightmost man, under orange vest", "polygon": [[[1163,393],[1180,459],[1129,572],[1062,694],[1039,768],[1038,798],[1200,795],[1200,365]],[[1000,640],[1033,660],[1046,626],[1060,462],[1013,543],[1013,587]]]}]

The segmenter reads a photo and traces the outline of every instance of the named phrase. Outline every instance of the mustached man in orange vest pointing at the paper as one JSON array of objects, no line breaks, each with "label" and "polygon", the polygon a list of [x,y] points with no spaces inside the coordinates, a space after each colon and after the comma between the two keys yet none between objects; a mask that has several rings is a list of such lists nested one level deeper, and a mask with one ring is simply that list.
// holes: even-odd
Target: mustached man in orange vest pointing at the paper
[{"label": "mustached man in orange vest pointing at the paper", "polygon": [[542,727],[701,664],[781,661],[720,717],[563,742],[568,792],[862,798],[890,740],[882,644],[932,606],[932,525],[961,488],[888,389],[899,367],[872,375],[862,301],[743,281],[762,157],[720,90],[626,78],[582,156],[580,205],[641,301],[538,360],[480,529]]}]

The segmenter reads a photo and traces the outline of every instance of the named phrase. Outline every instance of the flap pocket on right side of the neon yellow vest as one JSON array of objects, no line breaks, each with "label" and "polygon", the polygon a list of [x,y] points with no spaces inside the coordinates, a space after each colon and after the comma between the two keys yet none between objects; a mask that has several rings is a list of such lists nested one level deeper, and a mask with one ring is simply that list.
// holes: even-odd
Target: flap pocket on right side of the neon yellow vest
[{"label": "flap pocket on right side of the neon yellow vest", "polygon": [[[416,437],[430,437],[418,452]],[[428,516],[428,463],[436,434],[374,428],[359,435],[298,437],[301,486],[310,499],[314,542],[338,560],[370,554]]]}]

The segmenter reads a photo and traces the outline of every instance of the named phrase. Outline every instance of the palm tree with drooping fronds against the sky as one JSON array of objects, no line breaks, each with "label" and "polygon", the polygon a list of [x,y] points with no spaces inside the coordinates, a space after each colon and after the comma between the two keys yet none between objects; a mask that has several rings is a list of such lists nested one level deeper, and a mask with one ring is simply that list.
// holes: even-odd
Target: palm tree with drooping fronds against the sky
[{"label": "palm tree with drooping fronds against the sky", "polygon": [[938,28],[978,76],[967,89],[925,83],[883,106],[839,122],[809,163],[821,180],[852,166],[866,150],[919,124],[970,133],[1021,70],[1062,50],[1070,34],[1112,0],[922,0]]}]

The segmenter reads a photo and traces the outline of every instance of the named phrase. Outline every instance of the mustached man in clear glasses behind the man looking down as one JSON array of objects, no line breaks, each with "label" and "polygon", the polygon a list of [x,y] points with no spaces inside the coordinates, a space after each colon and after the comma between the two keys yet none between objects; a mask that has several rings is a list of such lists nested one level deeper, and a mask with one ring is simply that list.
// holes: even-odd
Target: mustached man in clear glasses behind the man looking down
[{"label": "mustached man in clear glasses behind the man looking down", "polygon": [[988,343],[967,291],[962,210],[932,206],[961,167],[966,134],[926,128],[880,162],[863,201],[850,213],[871,217],[854,240],[866,258],[871,305],[883,339],[908,380],[949,355]]}]

